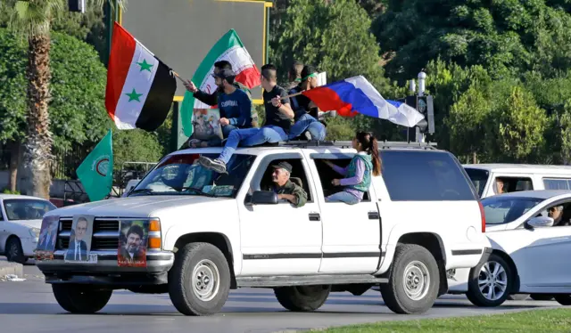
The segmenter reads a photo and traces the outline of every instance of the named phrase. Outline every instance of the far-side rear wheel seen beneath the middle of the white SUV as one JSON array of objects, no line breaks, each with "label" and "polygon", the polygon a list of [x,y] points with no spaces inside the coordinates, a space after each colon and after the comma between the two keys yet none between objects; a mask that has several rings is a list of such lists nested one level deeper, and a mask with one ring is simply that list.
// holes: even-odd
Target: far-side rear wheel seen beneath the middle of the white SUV
[{"label": "far-side rear wheel seen beneath the middle of the white SUV", "polygon": [[294,312],[317,310],[327,301],[331,285],[274,288],[277,302]]}]

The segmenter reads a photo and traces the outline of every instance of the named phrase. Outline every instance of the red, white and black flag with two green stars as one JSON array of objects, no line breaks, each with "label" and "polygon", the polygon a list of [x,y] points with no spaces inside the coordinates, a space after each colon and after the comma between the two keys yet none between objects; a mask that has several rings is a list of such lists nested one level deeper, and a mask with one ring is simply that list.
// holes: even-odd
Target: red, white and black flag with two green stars
[{"label": "red, white and black flag with two green stars", "polygon": [[176,78],[117,22],[112,36],[105,91],[107,113],[119,129],[153,132],[169,114]]}]

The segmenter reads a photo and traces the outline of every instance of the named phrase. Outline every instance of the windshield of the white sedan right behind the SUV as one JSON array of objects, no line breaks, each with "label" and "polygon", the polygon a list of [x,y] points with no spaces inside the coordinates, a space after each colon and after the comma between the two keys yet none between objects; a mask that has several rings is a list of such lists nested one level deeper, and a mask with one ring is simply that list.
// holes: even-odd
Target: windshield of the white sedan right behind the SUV
[{"label": "windshield of the white sedan right behind the SUV", "polygon": [[543,199],[538,198],[502,198],[501,196],[482,199],[485,223],[510,223],[542,201]]}]

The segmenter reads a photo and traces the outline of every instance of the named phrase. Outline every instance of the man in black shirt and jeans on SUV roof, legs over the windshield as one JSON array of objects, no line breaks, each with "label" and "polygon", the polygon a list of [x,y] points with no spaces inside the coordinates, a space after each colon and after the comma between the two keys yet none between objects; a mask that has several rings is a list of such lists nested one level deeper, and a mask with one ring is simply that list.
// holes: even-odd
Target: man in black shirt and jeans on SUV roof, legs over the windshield
[{"label": "man in black shirt and jeans on SUV roof, legs over the windshield", "polygon": [[277,85],[276,67],[271,64],[261,68],[261,87],[264,89],[263,99],[266,109],[266,122],[261,128],[235,129],[228,135],[228,141],[219,158],[210,159],[201,156],[198,162],[218,173],[226,172],[226,165],[236,151],[238,143],[244,147],[252,147],[265,142],[287,140],[292,126],[294,110],[290,107],[285,89]]}]

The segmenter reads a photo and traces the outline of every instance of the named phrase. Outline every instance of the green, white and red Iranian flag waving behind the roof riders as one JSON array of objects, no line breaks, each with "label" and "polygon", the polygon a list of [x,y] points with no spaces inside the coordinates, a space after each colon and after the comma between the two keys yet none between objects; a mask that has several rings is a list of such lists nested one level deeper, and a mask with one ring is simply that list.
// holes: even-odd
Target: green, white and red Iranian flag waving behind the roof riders
[{"label": "green, white and red Iranian flag waving behind the roof riders", "polygon": [[[256,68],[250,53],[248,53],[234,29],[230,29],[212,46],[211,51],[206,54],[206,58],[194,72],[192,81],[204,93],[214,93],[217,89],[214,77],[211,76],[214,72],[214,63],[217,61],[230,62],[232,70],[236,74],[236,82],[250,89],[260,85],[260,71]],[[196,100],[193,93],[186,91],[180,106],[180,117],[186,136],[193,134],[192,118],[194,109],[211,108],[215,109],[216,106],[204,104]]]}]

